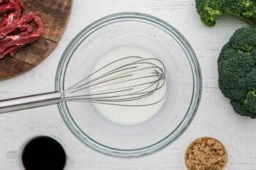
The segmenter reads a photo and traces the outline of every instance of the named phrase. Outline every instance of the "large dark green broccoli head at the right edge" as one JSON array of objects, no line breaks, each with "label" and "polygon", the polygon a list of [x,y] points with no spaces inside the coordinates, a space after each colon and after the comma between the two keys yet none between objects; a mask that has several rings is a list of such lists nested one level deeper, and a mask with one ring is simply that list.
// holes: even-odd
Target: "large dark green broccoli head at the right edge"
[{"label": "large dark green broccoli head at the right edge", "polygon": [[239,28],[218,58],[219,89],[240,115],[256,118],[256,29]]}]

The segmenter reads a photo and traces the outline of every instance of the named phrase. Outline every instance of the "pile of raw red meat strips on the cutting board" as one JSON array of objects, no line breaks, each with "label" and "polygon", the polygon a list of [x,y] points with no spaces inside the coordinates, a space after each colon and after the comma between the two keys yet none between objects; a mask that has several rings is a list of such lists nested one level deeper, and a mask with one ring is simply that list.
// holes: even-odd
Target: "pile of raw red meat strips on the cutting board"
[{"label": "pile of raw red meat strips on the cutting board", "polygon": [[[20,18],[22,9],[22,0],[0,0],[0,58],[14,56],[20,47],[36,41],[43,32],[42,20],[33,12]],[[36,29],[29,24],[32,20]]]}]

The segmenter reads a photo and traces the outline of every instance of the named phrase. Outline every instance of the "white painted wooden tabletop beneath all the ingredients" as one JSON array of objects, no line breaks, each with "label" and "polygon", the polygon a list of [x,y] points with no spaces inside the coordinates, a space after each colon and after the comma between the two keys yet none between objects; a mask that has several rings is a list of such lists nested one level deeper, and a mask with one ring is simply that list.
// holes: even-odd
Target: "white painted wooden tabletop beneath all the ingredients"
[{"label": "white painted wooden tabletop beneath all the ingredients", "polygon": [[177,28],[197,54],[203,74],[203,96],[197,115],[187,131],[161,152],[146,158],[123,160],[100,155],[85,147],[68,130],[56,105],[12,112],[0,116],[0,169],[18,169],[5,158],[31,134],[53,134],[63,140],[75,159],[75,170],[181,170],[184,148],[198,136],[215,136],[226,144],[231,170],[256,169],[256,120],[233,112],[217,84],[217,57],[222,46],[246,23],[222,17],[217,26],[200,23],[194,0],[74,0],[64,36],[54,52],[35,69],[0,82],[0,99],[54,90],[61,54],[70,40],[89,23],[116,12],[144,12]]}]

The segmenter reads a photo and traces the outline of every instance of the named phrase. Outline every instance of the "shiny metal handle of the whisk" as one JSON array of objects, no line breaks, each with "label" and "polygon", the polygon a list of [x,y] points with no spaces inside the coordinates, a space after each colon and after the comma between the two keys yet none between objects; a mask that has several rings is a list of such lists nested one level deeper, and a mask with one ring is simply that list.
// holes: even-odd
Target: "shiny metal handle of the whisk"
[{"label": "shiny metal handle of the whisk", "polygon": [[59,92],[41,93],[31,96],[9,98],[0,100],[0,113],[14,112],[22,109],[43,107],[50,104],[57,104],[61,101]]}]

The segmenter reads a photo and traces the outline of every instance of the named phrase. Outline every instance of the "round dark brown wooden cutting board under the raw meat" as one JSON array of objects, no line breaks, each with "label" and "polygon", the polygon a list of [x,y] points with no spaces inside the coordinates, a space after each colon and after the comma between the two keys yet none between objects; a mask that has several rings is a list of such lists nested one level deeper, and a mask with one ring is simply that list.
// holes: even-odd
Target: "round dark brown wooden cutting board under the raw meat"
[{"label": "round dark brown wooden cutting board under the raw meat", "polygon": [[44,33],[36,42],[21,48],[15,57],[0,59],[0,80],[7,80],[33,69],[50,55],[58,45],[67,26],[72,0],[23,0],[22,14],[34,12],[42,19]]}]

